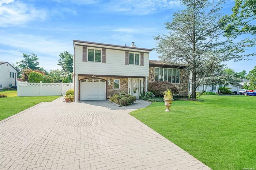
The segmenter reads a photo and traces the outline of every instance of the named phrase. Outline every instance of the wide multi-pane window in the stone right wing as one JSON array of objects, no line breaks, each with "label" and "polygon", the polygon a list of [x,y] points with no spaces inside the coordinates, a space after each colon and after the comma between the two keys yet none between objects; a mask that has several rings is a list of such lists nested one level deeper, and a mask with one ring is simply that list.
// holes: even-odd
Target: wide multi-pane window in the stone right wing
[{"label": "wide multi-pane window in the stone right wing", "polygon": [[168,81],[170,83],[180,83],[180,69],[155,68],[155,81]]}]

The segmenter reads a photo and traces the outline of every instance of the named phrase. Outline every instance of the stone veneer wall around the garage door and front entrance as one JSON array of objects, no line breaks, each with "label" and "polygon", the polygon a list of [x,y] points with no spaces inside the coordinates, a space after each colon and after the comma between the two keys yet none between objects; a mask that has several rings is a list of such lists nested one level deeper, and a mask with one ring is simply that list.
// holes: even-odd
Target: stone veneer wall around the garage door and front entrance
[{"label": "stone veneer wall around the garage door and front entrance", "polygon": [[[78,76],[78,80],[84,79],[84,78],[92,78],[97,79],[93,77],[84,77],[84,76]],[[113,78],[113,77],[98,77],[101,79],[104,79],[108,81],[110,79],[111,85],[108,85],[108,91],[107,91],[107,98],[112,97],[114,94],[120,94],[121,92],[125,92],[127,94],[128,92],[128,78]],[[114,79],[120,79],[120,89],[114,90]],[[80,95],[79,89],[78,89],[78,96]]]}]

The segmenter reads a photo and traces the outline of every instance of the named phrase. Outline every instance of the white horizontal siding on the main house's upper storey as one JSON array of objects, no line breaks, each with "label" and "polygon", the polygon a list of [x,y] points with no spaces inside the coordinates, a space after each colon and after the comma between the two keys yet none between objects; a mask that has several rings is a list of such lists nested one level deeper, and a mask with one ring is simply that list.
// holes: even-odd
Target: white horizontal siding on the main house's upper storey
[{"label": "white horizontal siding on the main house's upper storey", "polygon": [[[75,46],[75,74],[120,76],[148,76],[149,74],[148,53],[144,53],[144,66],[140,66],[132,64],[125,65],[125,51],[109,49],[106,49],[106,63],[83,62],[82,50],[82,46]],[[127,51],[129,51],[129,49],[127,49]]]}]

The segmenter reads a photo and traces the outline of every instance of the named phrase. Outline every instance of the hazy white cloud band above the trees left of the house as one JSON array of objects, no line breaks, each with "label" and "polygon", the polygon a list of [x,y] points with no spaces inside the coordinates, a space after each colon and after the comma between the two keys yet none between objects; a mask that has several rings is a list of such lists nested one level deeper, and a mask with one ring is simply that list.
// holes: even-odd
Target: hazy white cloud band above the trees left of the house
[{"label": "hazy white cloud band above the trees left of the house", "polygon": [[[53,37],[29,34],[2,34],[0,45],[1,57],[6,58],[7,62],[15,63],[22,59],[22,53],[33,52],[39,58],[39,66],[47,71],[59,68],[57,62],[60,52],[74,53],[72,40],[65,42],[65,40],[56,40]],[[4,60],[3,58],[1,60]]]}]

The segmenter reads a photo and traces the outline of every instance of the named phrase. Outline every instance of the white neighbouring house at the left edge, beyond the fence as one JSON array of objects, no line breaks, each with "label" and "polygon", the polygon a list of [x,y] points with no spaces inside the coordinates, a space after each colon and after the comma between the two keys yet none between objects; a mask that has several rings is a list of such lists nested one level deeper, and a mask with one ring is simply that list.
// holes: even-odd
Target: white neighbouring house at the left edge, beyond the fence
[{"label": "white neighbouring house at the left edge, beyond the fence", "polygon": [[16,86],[17,71],[8,62],[0,62],[0,89]]}]

